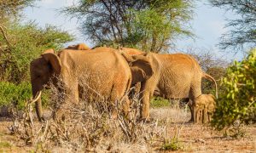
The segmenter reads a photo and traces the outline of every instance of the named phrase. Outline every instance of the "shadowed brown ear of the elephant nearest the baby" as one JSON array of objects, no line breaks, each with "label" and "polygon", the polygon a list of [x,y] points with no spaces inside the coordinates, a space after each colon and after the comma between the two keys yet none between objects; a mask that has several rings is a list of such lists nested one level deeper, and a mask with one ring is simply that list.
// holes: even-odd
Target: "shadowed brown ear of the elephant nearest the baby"
[{"label": "shadowed brown ear of the elephant nearest the baby", "polygon": [[132,84],[145,82],[154,74],[152,64],[147,54],[129,55],[123,54],[126,61],[130,64],[132,74]]}]

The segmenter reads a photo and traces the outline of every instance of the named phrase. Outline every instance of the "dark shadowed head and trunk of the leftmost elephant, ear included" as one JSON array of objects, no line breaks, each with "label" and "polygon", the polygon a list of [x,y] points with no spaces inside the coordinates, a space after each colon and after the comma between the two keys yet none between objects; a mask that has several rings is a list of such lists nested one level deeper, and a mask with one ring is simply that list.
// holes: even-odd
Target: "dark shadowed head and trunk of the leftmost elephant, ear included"
[{"label": "dark shadowed head and trunk of the leftmost elephant, ear included", "polygon": [[[61,60],[54,54],[53,49],[44,51],[40,58],[32,60],[30,64],[30,74],[32,83],[32,94],[35,98],[41,92],[44,85],[49,83],[50,78],[61,73]],[[42,121],[43,112],[41,98],[36,101],[36,112],[38,120]]]}]

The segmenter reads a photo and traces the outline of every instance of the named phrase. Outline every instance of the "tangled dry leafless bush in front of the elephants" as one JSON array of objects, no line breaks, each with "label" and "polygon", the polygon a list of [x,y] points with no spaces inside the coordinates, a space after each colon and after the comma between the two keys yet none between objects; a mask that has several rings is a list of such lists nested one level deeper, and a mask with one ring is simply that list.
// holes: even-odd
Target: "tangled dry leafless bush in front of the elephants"
[{"label": "tangled dry leafless bush in front of the elephants", "polygon": [[[99,95],[99,99],[80,99],[79,103],[75,103],[61,92],[63,90],[60,90],[60,87],[51,86],[51,89],[52,115],[45,122],[33,122],[33,100],[29,100],[24,115],[16,117],[14,125],[9,128],[11,133],[24,139],[26,144],[40,146],[37,149],[42,151],[145,152],[168,149],[165,146],[169,146],[170,143],[173,145],[173,139],[176,146],[179,129],[182,128],[183,122],[186,122],[182,119],[182,122],[176,125],[177,131],[170,135],[166,129],[172,124],[166,122],[166,118],[154,119],[150,123],[138,121],[138,95],[131,99],[127,117],[122,111],[124,99],[109,103],[108,99],[102,99]],[[84,95],[90,98],[90,92],[85,92],[84,90]],[[112,109],[109,109],[109,106]],[[116,112],[116,116],[113,116],[113,111]],[[154,114],[154,111],[152,113]],[[181,118],[183,117],[181,115]]]}]

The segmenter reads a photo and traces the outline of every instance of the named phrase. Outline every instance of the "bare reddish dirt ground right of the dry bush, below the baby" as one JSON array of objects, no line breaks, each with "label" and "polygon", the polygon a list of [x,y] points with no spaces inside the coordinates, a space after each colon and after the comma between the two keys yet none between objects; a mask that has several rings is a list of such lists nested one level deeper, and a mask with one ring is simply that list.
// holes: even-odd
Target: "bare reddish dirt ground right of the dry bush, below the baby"
[{"label": "bare reddish dirt ground right of the dry bush, below the baby", "polygon": [[189,123],[189,112],[180,109],[151,109],[151,116],[161,121],[170,120],[171,123],[166,124],[168,125],[168,134],[170,136],[179,134],[183,151],[256,152],[255,124],[247,126],[247,133],[243,138],[233,139],[224,137],[223,133],[213,130],[209,125]]}]

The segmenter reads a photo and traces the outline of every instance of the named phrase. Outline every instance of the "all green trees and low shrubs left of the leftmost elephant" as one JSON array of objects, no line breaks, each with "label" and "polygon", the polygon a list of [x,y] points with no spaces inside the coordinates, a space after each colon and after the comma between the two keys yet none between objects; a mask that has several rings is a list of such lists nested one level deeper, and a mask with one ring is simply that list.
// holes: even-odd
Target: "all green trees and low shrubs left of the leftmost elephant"
[{"label": "all green trees and low shrubs left of the leftmost elephant", "polygon": [[63,47],[73,37],[55,26],[22,23],[23,8],[32,0],[0,1],[0,105],[24,106],[32,97],[29,64],[45,49]]}]

